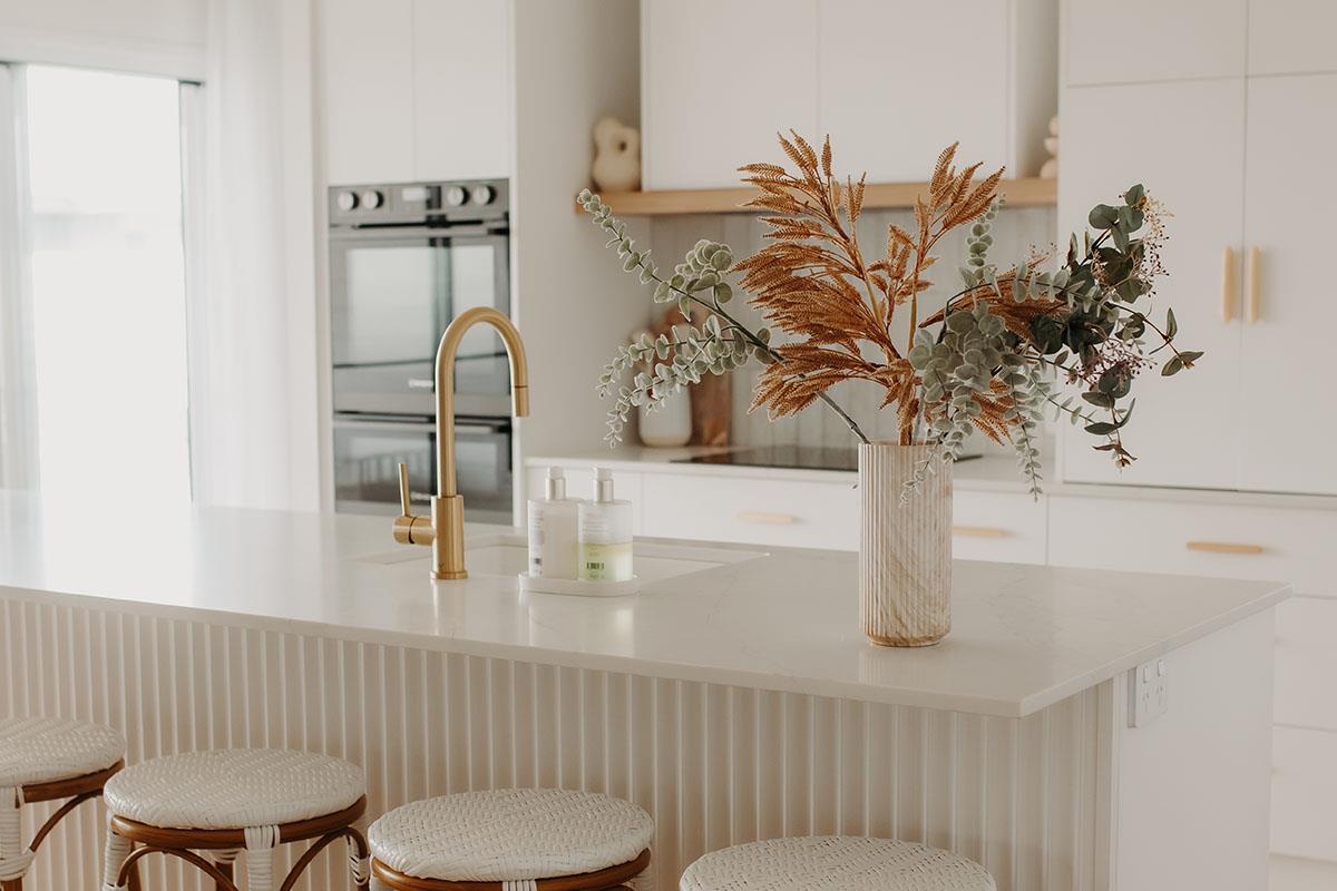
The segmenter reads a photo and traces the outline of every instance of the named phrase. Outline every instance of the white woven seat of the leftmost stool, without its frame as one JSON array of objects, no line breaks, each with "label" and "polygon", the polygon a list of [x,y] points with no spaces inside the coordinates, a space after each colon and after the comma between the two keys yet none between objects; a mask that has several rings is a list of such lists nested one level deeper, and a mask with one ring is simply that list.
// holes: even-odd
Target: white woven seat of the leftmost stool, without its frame
[{"label": "white woven seat of the leftmost stool, without its frame", "polygon": [[95,773],[124,755],[126,740],[110,727],[64,717],[0,719],[0,788]]}]

